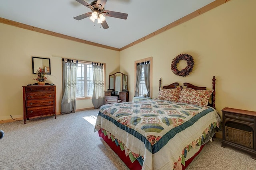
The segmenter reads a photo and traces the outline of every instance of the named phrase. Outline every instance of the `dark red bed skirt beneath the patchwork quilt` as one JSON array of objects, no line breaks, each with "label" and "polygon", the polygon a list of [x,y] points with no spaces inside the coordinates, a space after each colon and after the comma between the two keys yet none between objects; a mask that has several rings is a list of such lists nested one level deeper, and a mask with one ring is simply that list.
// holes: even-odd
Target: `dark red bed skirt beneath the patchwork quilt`
[{"label": "dark red bed skirt beneath the patchwork quilt", "polygon": [[[131,162],[129,156],[126,156],[125,151],[121,150],[119,145],[116,146],[115,142],[112,142],[111,138],[108,139],[108,136],[104,135],[104,133],[102,133],[102,130],[100,129],[98,131],[99,136],[102,137],[102,139],[108,144],[108,146],[119,156],[119,158],[124,162],[124,164],[126,164],[126,166],[130,169],[130,170],[141,170],[142,166],[140,165],[138,160],[135,160],[134,162]],[[200,149],[188,160],[185,161],[185,165],[182,165],[182,170],[186,169],[187,166],[192,162],[192,160],[201,152],[201,150],[203,149],[204,145],[200,146]]]}]

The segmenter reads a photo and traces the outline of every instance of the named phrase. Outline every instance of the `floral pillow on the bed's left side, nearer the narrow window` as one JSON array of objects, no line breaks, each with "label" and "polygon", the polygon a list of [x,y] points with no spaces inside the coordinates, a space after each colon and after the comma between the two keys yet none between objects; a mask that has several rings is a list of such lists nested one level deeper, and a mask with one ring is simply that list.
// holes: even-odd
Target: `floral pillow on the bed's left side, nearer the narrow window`
[{"label": "floral pillow on the bed's left side, nearer the narrow window", "polygon": [[160,88],[158,99],[178,102],[180,98],[181,88]]}]

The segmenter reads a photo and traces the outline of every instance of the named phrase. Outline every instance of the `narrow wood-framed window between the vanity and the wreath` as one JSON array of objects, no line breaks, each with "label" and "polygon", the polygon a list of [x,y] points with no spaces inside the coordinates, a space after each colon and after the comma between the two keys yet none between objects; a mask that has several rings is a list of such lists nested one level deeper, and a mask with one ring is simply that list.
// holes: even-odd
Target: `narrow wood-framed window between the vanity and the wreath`
[{"label": "narrow wood-framed window between the vanity and the wreath", "polygon": [[[134,62],[134,66],[135,66],[135,83],[136,83],[136,79],[137,79],[137,64],[143,64],[144,62],[149,62],[150,63],[150,70],[147,74],[149,74],[150,76],[150,94],[149,96],[152,97],[152,57],[146,58],[146,59],[142,59],[142,60],[138,60]],[[148,94],[148,90],[146,89],[146,84],[145,84],[145,70],[144,67],[142,67],[142,71],[140,74],[140,82],[139,82],[139,88],[138,88],[138,96],[143,97],[144,94]],[[136,84],[135,84],[135,92],[136,92]]]}]

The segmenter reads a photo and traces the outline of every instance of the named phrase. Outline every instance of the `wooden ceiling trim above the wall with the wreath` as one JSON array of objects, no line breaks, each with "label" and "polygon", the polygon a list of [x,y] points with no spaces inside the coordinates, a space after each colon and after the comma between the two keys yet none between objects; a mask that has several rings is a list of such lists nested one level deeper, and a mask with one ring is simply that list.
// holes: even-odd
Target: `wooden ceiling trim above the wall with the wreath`
[{"label": "wooden ceiling trim above the wall with the wreath", "polygon": [[134,41],[133,43],[130,43],[130,44],[120,48],[119,51],[123,51],[124,49],[128,49],[129,47],[132,47],[133,45],[136,45],[138,43],[141,43],[142,41],[150,39],[151,37],[154,37],[155,35],[158,35],[168,29],[171,29],[177,25],[180,25],[181,23],[184,23],[188,20],[191,20],[191,19],[201,15],[201,14],[204,14],[205,12],[210,11],[213,8],[220,6],[221,4],[224,4],[228,1],[230,1],[230,0],[215,0],[214,2],[200,8],[199,10],[196,10],[196,11],[188,14],[187,16],[184,16],[184,17],[180,18],[179,20],[176,20],[176,21],[170,23],[169,25],[166,25],[165,27],[158,29],[157,31],[150,33],[150,34],[146,35],[145,37],[142,37],[141,39],[138,39],[137,41]]}]

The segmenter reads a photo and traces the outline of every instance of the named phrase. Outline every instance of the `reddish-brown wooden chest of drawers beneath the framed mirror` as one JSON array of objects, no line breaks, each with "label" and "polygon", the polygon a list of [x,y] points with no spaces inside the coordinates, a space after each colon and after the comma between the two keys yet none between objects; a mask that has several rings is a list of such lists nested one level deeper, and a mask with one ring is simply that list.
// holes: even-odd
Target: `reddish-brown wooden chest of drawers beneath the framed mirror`
[{"label": "reddish-brown wooden chest of drawers beneath the framed mirror", "polygon": [[54,114],[56,119],[56,86],[23,86],[23,119]]}]

